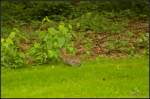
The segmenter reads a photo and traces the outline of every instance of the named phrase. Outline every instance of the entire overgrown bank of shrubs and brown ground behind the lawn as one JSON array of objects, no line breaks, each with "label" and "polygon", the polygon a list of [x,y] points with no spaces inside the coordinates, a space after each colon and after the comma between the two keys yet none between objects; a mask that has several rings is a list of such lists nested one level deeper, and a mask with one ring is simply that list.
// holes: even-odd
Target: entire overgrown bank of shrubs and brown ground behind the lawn
[{"label": "entire overgrown bank of shrubs and brown ground behind the lawn", "polygon": [[148,54],[147,5],[147,0],[3,1],[2,66],[59,60],[62,48],[72,54]]}]

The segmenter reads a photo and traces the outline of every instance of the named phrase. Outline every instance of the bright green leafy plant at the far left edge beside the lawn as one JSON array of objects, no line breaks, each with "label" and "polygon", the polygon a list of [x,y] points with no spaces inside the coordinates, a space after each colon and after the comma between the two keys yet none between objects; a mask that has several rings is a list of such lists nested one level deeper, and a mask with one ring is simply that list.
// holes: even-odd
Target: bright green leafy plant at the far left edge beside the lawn
[{"label": "bright green leafy plant at the far left edge beside the lawn", "polygon": [[17,31],[13,31],[7,38],[1,39],[1,62],[4,67],[17,67],[24,64],[23,53],[19,52],[15,44]]}]

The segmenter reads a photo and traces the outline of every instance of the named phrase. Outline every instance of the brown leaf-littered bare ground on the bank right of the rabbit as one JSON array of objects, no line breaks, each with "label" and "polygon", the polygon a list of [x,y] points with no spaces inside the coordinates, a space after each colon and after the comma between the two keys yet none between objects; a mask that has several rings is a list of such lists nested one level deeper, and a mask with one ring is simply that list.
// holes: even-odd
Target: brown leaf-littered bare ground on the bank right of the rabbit
[{"label": "brown leaf-littered bare ground on the bank right of the rabbit", "polygon": [[[126,31],[133,33],[132,37],[129,37]],[[108,48],[106,48],[106,43],[109,41],[109,38],[113,40],[126,40],[129,41],[131,45],[136,45],[137,39],[140,38],[140,35],[143,33],[148,33],[149,27],[148,22],[144,20],[130,20],[128,26],[126,27],[124,33],[109,35],[109,33],[93,33],[89,34],[89,37],[93,40],[92,53],[94,56],[98,55],[109,55],[115,57],[126,56],[127,53],[123,53],[117,49],[108,53]],[[139,49],[140,50],[140,49]],[[138,51],[139,51],[138,50]],[[139,51],[140,53],[140,51]]]}]

